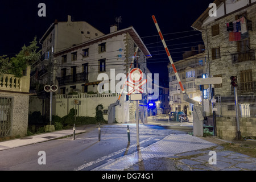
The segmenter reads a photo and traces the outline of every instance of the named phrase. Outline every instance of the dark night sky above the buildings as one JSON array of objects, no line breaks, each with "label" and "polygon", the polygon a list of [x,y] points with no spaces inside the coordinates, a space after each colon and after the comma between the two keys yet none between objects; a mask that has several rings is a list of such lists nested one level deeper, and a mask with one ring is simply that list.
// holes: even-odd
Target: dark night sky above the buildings
[{"label": "dark night sky above the buildings", "polygon": [[[152,73],[159,73],[160,85],[165,82],[168,87],[167,64],[170,61],[151,16],[155,15],[158,21],[172,59],[181,60],[182,53],[204,44],[200,32],[193,31],[191,25],[211,2],[213,0],[1,1],[0,55],[15,56],[35,36],[38,40],[42,38],[55,19],[67,21],[67,16],[71,15],[73,20],[88,22],[109,34],[109,26],[121,16],[119,30],[135,28],[152,55],[147,59],[147,67]],[[46,17],[38,16],[39,3],[46,4]]]}]

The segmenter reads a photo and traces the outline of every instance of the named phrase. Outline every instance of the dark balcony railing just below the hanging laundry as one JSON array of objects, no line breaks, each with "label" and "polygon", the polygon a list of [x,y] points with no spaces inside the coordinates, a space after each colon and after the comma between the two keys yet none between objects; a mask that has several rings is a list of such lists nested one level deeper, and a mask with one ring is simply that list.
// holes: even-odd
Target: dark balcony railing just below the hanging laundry
[{"label": "dark balcony railing just below the hanging laundry", "polygon": [[242,51],[238,53],[232,53],[232,63],[240,63],[243,61],[255,60],[255,53],[253,49],[248,51]]}]

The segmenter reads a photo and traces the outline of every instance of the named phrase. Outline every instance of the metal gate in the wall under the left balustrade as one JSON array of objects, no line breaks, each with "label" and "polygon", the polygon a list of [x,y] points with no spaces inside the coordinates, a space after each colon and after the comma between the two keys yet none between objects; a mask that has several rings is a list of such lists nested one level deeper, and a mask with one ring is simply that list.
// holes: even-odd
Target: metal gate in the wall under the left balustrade
[{"label": "metal gate in the wall under the left balustrade", "polygon": [[0,97],[0,137],[11,135],[11,111],[13,98]]}]

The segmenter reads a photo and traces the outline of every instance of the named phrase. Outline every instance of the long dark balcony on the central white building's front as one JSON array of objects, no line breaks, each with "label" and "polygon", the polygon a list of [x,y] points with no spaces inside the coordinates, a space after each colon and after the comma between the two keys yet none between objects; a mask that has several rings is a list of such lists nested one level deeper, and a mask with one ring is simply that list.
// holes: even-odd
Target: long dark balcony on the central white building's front
[{"label": "long dark balcony on the central white building's front", "polygon": [[75,75],[66,75],[57,77],[59,85],[72,84],[81,81],[88,81],[88,73],[76,73]]}]

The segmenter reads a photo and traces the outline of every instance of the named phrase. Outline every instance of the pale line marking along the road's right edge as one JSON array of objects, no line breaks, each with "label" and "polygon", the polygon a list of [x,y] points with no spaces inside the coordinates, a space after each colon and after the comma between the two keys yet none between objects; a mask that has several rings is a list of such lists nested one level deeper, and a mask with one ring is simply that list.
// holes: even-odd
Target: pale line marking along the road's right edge
[{"label": "pale line marking along the road's right edge", "polygon": [[[140,144],[145,143],[145,142],[148,142],[148,141],[152,140],[153,138],[155,138],[155,137],[150,137],[150,138],[148,138],[148,139],[146,139],[146,140],[143,140],[142,142],[140,142]],[[133,144],[132,146],[130,146],[130,148],[131,148],[131,147],[137,147],[137,144]],[[120,154],[120,153],[122,153],[122,152],[125,152],[126,150],[127,150],[127,148],[123,148],[122,150],[119,150],[119,151],[117,151],[117,152],[114,152],[113,154],[109,154],[109,155],[103,156],[103,157],[100,158],[100,159],[97,159],[97,160],[94,160],[94,161],[92,161],[92,162],[83,164],[82,166],[79,166],[78,168],[75,168],[74,171],[81,171],[82,169],[84,169],[84,168],[86,168],[86,167],[92,166],[93,164],[99,163],[99,162],[101,162],[101,161],[103,161],[103,160],[106,160],[106,159],[108,159],[108,158],[112,158],[113,156],[115,156],[115,155],[117,155],[117,154]]]}]

